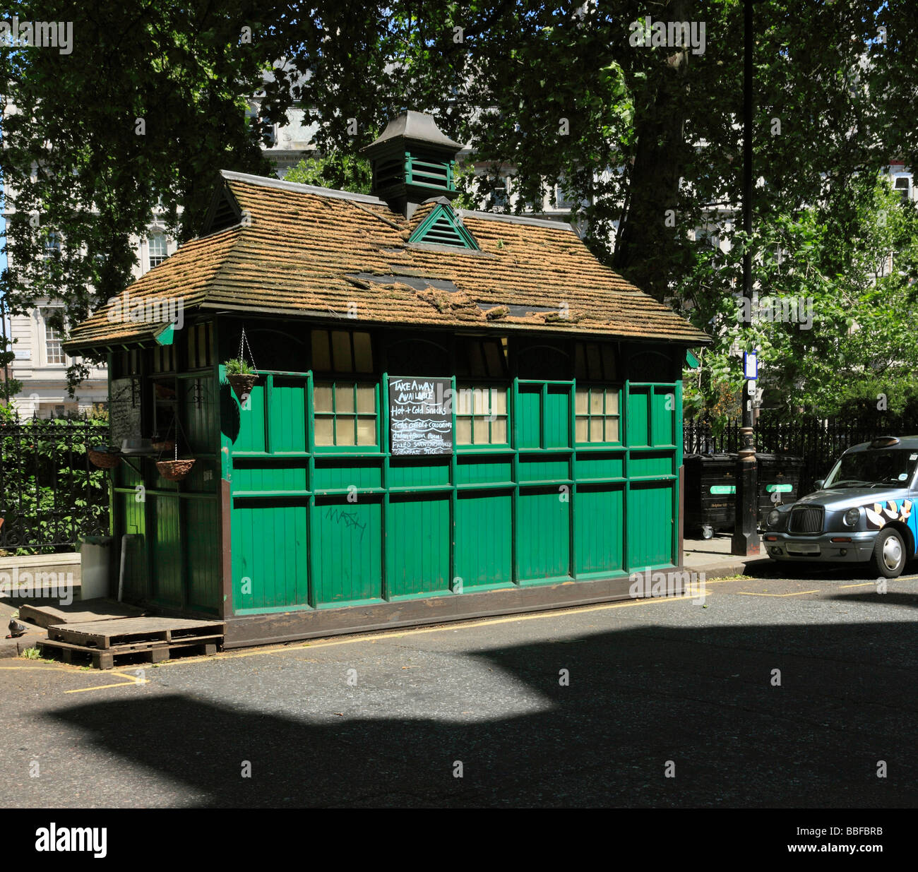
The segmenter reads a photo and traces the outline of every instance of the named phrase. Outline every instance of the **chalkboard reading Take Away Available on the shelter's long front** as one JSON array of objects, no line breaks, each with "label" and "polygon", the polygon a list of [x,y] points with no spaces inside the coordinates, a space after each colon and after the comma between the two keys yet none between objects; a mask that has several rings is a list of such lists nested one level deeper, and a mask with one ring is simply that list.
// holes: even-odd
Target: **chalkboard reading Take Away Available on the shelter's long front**
[{"label": "chalkboard reading Take Away Available on the shelter's long front", "polygon": [[393,454],[452,453],[452,380],[390,378],[389,430]]}]

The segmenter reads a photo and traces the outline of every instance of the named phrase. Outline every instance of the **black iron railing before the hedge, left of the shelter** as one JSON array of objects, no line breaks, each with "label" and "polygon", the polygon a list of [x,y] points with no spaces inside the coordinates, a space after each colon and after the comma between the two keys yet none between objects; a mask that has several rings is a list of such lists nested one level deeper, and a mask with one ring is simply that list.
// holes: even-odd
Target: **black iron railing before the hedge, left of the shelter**
[{"label": "black iron railing before the hedge, left of the shelter", "polygon": [[49,553],[108,531],[108,487],[86,446],[108,426],[89,419],[0,420],[0,549]]}]

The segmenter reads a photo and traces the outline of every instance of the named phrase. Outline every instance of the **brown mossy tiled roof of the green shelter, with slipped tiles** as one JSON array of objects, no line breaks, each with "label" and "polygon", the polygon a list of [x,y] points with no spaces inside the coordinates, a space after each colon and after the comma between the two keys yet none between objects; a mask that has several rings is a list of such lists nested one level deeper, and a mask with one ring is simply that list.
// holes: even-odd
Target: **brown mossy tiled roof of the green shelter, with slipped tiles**
[{"label": "brown mossy tiled roof of the green shelter, with slipped tiles", "polygon": [[[408,243],[410,220],[382,201],[223,173],[241,223],[186,242],[128,288],[185,307],[277,312],[364,324],[559,330],[706,343],[686,319],[599,261],[568,226],[460,212],[481,252]],[[102,307],[68,347],[127,341],[150,324],[113,322]]]}]

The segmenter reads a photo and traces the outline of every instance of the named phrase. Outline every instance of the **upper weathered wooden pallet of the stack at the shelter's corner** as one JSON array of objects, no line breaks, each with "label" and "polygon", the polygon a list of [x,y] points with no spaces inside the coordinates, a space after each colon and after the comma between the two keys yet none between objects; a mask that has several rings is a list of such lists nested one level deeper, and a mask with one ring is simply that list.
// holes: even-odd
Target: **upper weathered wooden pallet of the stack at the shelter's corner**
[{"label": "upper weathered wooden pallet of the stack at the shelter's corner", "polygon": [[48,628],[51,642],[66,642],[81,648],[109,650],[127,643],[194,642],[222,636],[221,620],[185,618],[119,618],[83,623],[56,624]]}]

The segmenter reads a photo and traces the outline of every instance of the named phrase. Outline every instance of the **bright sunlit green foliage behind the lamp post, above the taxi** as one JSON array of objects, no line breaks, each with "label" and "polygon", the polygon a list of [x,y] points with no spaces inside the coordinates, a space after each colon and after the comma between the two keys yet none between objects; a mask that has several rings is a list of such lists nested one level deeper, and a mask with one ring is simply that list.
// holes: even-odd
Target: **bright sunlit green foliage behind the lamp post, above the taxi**
[{"label": "bright sunlit green foliage behind the lamp post, above the taxi", "polygon": [[[853,408],[901,412],[915,396],[918,368],[918,210],[901,204],[885,176],[866,173],[833,186],[823,203],[794,215],[775,215],[752,240],[760,304],[772,314],[782,298],[795,301],[789,322],[766,319],[748,330],[733,296],[741,286],[744,240],[732,252],[700,252],[698,266],[679,285],[690,318],[715,336],[696,387],[696,409],[716,414],[718,397],[737,397],[744,379],[731,349],[759,352],[759,386],[766,408],[822,416]],[[890,268],[891,256],[891,268]],[[800,318],[812,307],[812,327]],[[785,314],[783,311],[781,314]]]}]

